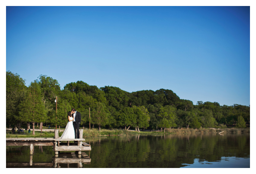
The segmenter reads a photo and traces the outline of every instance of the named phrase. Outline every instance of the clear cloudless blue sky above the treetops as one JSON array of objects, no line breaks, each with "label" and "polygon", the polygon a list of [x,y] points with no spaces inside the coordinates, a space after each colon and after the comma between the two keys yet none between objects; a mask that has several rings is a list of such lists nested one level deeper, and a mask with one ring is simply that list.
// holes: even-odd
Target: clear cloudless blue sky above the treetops
[{"label": "clear cloudless blue sky above the treetops", "polygon": [[6,7],[6,71],[250,105],[250,7]]}]

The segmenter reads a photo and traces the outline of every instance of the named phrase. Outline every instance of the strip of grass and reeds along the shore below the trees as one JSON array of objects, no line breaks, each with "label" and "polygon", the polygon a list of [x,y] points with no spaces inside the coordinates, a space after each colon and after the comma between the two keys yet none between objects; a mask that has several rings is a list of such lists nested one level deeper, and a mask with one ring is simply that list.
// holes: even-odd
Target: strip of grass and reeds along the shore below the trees
[{"label": "strip of grass and reeds along the shore below the trees", "polygon": [[[157,135],[157,134],[218,134],[223,132],[222,134],[229,133],[250,133],[250,128],[223,128],[223,129],[215,129],[215,128],[205,128],[205,129],[166,129],[165,133],[156,132],[156,131],[127,131],[122,129],[84,129],[83,137],[100,137],[100,136],[130,136],[130,135]],[[59,136],[62,135],[63,132],[59,132]],[[35,135],[32,135],[32,131],[30,134],[11,134],[11,131],[6,130],[6,138],[53,138],[54,132],[41,132],[35,131]]]}]

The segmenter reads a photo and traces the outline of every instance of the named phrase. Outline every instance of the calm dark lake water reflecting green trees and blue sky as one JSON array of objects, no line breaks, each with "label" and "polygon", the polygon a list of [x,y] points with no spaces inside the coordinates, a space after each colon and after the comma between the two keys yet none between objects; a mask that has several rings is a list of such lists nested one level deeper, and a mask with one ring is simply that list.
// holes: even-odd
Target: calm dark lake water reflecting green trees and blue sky
[{"label": "calm dark lake water reflecting green trees and blue sky", "polygon": [[92,150],[82,156],[61,152],[58,157],[52,146],[34,146],[31,156],[29,146],[6,146],[6,167],[250,168],[250,134],[112,136],[86,138],[86,143]]}]

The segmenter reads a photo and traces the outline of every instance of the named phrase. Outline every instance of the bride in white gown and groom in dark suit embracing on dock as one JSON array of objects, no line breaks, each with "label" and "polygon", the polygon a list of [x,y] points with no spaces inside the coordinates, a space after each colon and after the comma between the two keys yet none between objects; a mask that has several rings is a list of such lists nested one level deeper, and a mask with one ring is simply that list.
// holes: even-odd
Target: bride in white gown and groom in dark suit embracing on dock
[{"label": "bride in white gown and groom in dark suit embracing on dock", "polygon": [[81,123],[81,113],[72,109],[67,113],[68,123],[61,135],[61,139],[79,138],[79,125]]}]

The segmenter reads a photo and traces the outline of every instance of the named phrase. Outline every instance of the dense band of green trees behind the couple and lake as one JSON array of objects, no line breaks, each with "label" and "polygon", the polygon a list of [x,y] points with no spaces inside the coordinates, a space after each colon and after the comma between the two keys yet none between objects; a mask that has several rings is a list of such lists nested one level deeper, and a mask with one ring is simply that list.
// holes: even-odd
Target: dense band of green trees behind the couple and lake
[{"label": "dense band of green trees behind the couple and lake", "polygon": [[[57,104],[55,100],[57,99]],[[56,79],[40,75],[27,87],[17,73],[6,71],[6,126],[67,124],[67,112],[81,113],[81,126],[125,129],[245,128],[250,106],[220,106],[217,102],[180,99],[172,90],[126,92],[118,87],[98,88],[86,82],[70,82],[60,89]],[[90,116],[89,116],[90,114]]]}]

